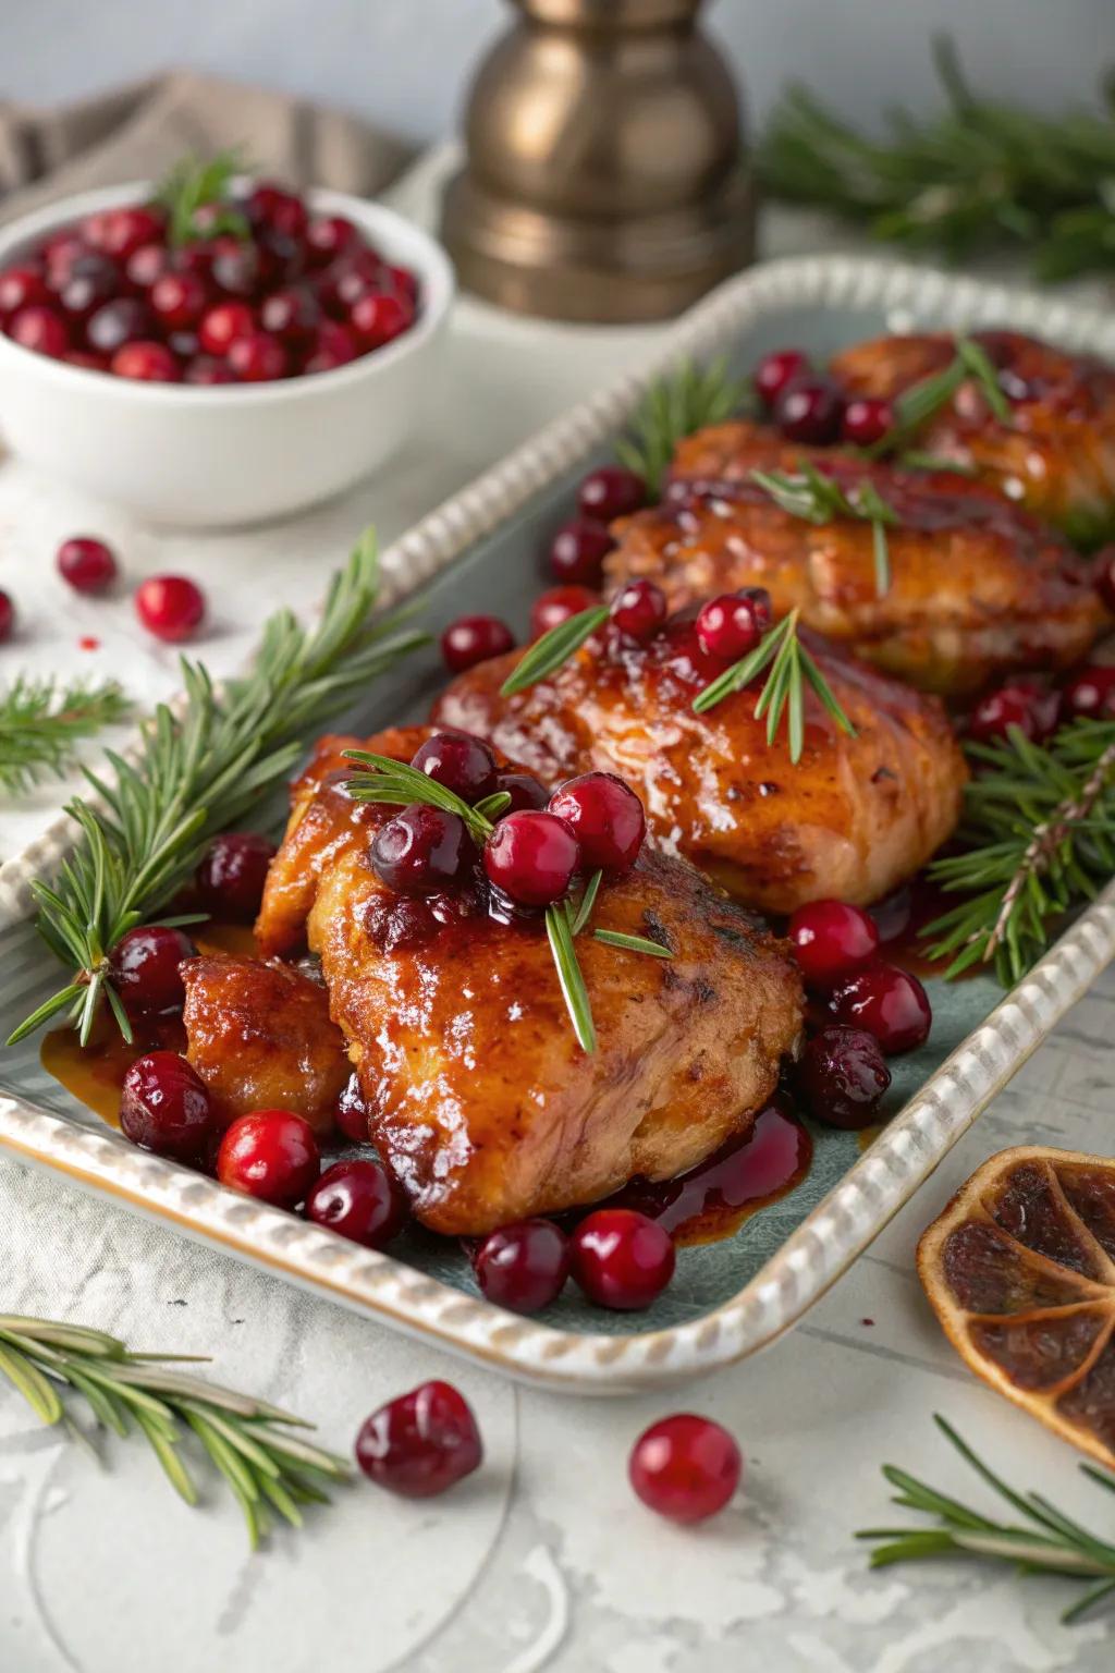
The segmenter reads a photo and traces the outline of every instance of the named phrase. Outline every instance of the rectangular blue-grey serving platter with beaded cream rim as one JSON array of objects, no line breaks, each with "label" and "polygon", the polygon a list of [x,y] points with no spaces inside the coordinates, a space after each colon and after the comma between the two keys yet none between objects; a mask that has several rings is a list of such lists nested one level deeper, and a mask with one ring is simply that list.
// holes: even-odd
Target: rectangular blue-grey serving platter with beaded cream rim
[{"label": "rectangular blue-grey serving platter with beaded cream rim", "polygon": [[[568,515],[587,465],[612,453],[649,381],[680,358],[727,356],[747,370],[766,350],[817,356],[863,336],[919,326],[1008,325],[1115,358],[1115,320],[1048,298],[854,258],[771,263],[692,310],[637,375],[527,442],[384,554],[384,604],[411,599],[435,632],[468,611],[525,627],[542,586],[538,554]],[[354,530],[356,532],[356,530]],[[374,731],[420,719],[440,684],[433,652],[413,657],[351,716]],[[28,883],[64,858],[64,816],[8,862],[0,898],[0,1037],[43,997],[57,967],[27,917]],[[0,1054],[0,1144],[395,1328],[512,1377],[570,1394],[622,1394],[682,1382],[752,1353],[789,1328],[918,1190],[988,1101],[1115,955],[1115,883],[1010,994],[990,977],[931,980],[933,1034],[894,1059],[891,1116],[859,1151],[856,1134],[814,1131],[807,1178],[719,1243],[685,1248],[649,1313],[603,1313],[567,1292],[537,1318],[485,1302],[456,1245],[408,1233],[389,1253],[237,1196],[127,1144],[38,1062],[38,1042]],[[1020,1134],[1020,1139],[1025,1134]]]}]

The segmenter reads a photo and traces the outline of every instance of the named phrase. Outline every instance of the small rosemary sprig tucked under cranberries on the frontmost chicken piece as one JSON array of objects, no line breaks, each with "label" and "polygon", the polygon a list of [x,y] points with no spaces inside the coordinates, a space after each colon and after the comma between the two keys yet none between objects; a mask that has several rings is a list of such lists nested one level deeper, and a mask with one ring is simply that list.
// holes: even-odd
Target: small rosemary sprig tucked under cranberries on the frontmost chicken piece
[{"label": "small rosemary sprig tucked under cranberries on the frontmost chicken piece", "polygon": [[[507,811],[512,801],[507,791],[498,791],[493,796],[485,796],[485,800],[478,801],[475,806],[470,806],[470,803],[458,796],[456,791],[446,790],[445,785],[438,785],[436,780],[421,773],[418,768],[403,761],[393,761],[386,755],[374,755],[368,750],[346,750],[344,760],[366,768],[366,771],[353,773],[353,776],[344,781],[344,788],[356,801],[386,803],[388,806],[401,808],[413,806],[415,803],[425,803],[426,806],[441,808],[445,813],[455,813],[465,823],[468,835],[478,848],[483,848],[488,836],[491,836],[491,831],[495,830],[495,820]],[[573,900],[567,897],[565,900],[547,907],[545,912],[547,939],[550,942],[553,967],[565,999],[565,1009],[568,1010],[570,1022],[573,1024],[577,1041],[585,1052],[593,1052],[597,1049],[597,1029],[592,1021],[592,1000],[588,999],[588,989],[585,987],[585,977],[577,957],[577,947],[573,944],[577,937],[588,929],[602,877],[602,872],[593,872],[585,883],[580,898]],[[608,947],[619,947],[624,952],[639,952],[652,959],[672,957],[669,947],[664,947],[660,942],[647,940],[642,935],[625,935],[619,930],[593,929],[592,937]]]}]

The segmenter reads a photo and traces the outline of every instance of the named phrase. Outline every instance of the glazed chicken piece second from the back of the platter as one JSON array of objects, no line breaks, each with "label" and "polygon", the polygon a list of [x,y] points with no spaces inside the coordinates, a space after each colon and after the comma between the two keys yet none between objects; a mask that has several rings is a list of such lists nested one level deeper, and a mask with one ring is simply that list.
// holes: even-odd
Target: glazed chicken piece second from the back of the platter
[{"label": "glazed chicken piece second from the back of the platter", "polygon": [[[844,490],[868,478],[901,517],[878,596],[871,524],[816,525],[782,510],[752,470],[802,458]],[[608,584],[649,576],[670,609],[736,587],[771,592],[802,621],[923,691],[966,696],[1016,669],[1067,668],[1108,621],[1090,564],[1063,537],[956,473],[868,465],[736,422],[684,440],[662,505],[615,524]]]}]

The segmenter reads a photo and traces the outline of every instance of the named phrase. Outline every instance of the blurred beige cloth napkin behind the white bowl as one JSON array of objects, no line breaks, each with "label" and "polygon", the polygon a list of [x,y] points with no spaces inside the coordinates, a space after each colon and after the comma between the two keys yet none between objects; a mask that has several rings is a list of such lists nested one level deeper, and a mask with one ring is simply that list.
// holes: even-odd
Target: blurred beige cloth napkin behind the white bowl
[{"label": "blurred beige cloth napkin behind the white bowl", "polygon": [[69,192],[157,179],[186,151],[239,147],[252,172],[371,196],[411,147],[341,110],[172,70],[77,104],[0,102],[0,223]]}]

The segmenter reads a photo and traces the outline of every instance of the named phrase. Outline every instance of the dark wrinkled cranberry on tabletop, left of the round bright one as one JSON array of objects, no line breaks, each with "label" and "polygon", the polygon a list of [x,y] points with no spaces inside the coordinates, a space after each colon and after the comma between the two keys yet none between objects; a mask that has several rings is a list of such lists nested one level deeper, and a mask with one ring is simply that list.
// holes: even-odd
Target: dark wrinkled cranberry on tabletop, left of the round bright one
[{"label": "dark wrinkled cranberry on tabletop, left of the round bright one", "polygon": [[373,1412],[356,1435],[369,1481],[403,1499],[431,1499],[483,1461],[476,1419],[450,1382],[423,1382]]}]

